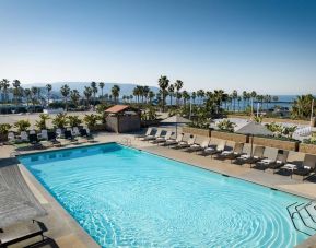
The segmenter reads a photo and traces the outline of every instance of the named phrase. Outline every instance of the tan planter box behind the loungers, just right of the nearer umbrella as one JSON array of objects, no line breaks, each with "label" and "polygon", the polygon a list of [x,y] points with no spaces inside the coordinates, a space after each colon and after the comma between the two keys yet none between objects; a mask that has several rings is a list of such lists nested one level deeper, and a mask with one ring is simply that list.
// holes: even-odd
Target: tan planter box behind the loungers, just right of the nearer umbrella
[{"label": "tan planter box behind the loungers, just right of the nearer umbrella", "polygon": [[[251,143],[251,137],[249,138],[249,143]],[[282,149],[288,151],[299,151],[299,142],[295,141],[283,141],[274,140],[269,138],[254,137],[254,144],[270,146],[276,149]]]}]

